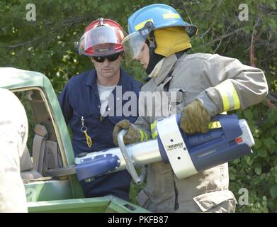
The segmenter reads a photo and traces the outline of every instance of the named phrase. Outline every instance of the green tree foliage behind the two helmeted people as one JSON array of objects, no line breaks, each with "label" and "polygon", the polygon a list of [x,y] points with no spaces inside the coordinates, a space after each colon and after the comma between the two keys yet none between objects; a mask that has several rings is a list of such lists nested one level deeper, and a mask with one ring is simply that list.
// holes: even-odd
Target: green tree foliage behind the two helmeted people
[{"label": "green tree foliage behind the two helmeted people", "polygon": [[[43,72],[57,94],[74,74],[91,69],[88,57],[75,53],[86,26],[99,17],[112,18],[127,29],[127,18],[142,6],[158,1],[34,0],[36,21],[27,21],[28,0],[0,1],[0,66]],[[241,1],[176,0],[170,4],[190,23],[198,26],[191,52],[218,53],[264,70],[269,94],[266,100],[245,111],[255,138],[254,154],[230,163],[230,188],[237,199],[239,189],[249,191],[249,204],[237,211],[277,211],[277,10],[274,0],[244,0],[248,21],[240,21]],[[125,64],[123,62],[123,67]],[[125,67],[142,80],[141,68]]]}]

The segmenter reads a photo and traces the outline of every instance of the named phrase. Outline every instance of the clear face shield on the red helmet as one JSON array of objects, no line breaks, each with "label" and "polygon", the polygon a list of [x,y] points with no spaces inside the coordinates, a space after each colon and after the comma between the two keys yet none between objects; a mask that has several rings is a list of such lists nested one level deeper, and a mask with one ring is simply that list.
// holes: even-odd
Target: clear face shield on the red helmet
[{"label": "clear face shield on the red helmet", "polygon": [[81,36],[78,45],[79,55],[94,57],[121,52],[124,36],[124,32],[115,27],[101,26],[91,29]]}]

